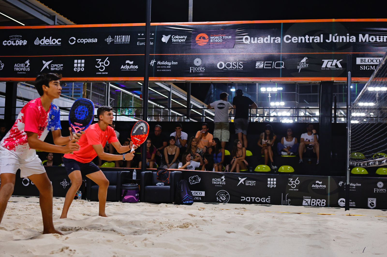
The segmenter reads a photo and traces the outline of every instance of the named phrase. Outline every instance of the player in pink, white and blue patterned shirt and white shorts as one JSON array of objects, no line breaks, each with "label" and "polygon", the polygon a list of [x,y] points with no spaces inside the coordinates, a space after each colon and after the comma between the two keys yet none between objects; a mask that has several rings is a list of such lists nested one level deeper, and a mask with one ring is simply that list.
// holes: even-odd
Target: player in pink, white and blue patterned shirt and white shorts
[{"label": "player in pink, white and blue patterned shirt and white shorts", "polygon": [[[62,87],[55,73],[39,75],[35,88],[41,97],[29,101],[20,111],[15,124],[0,142],[0,223],[7,202],[14,191],[16,171],[21,178],[29,178],[39,189],[39,202],[43,216],[43,233],[58,233],[52,220],[52,185],[36,150],[67,154],[79,150],[75,139],[62,137],[59,108],[52,103],[59,98]],[[44,142],[52,131],[55,145]]]}]

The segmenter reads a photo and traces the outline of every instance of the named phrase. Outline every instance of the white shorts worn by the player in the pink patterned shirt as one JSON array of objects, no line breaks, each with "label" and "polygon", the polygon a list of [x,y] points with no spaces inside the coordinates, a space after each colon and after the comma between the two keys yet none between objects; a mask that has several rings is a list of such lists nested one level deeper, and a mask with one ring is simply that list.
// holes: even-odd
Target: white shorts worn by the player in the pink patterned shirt
[{"label": "white shorts worn by the player in the pink patterned shirt", "polygon": [[0,174],[16,174],[18,169],[20,169],[21,178],[27,178],[28,176],[34,174],[42,174],[46,172],[42,161],[37,155],[35,155],[32,159],[25,161],[19,158],[15,152],[0,146]]}]

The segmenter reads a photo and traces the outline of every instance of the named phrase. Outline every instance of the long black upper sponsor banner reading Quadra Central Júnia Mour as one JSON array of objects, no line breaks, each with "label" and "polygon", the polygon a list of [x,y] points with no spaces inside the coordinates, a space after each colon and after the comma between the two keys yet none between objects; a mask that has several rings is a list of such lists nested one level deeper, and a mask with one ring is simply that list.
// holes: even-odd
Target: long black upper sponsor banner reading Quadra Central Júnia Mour
[{"label": "long black upper sponsor banner reading Quadra Central J\u00fania Mour", "polygon": [[[352,52],[352,76],[366,78],[387,50],[385,27],[375,21],[155,25],[149,76],[346,78]],[[51,60],[44,71],[80,80],[144,75],[143,26],[2,29],[1,34],[0,52],[6,55],[0,56],[0,80],[34,78],[43,72],[42,61]],[[30,61],[29,71],[15,69],[19,57]],[[84,66],[75,66],[75,59]]]}]

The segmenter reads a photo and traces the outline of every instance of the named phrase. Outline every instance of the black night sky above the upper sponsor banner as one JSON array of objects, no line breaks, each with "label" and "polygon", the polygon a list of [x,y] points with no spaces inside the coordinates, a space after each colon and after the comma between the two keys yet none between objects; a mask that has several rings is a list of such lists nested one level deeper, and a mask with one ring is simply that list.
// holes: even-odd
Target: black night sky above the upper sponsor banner
[{"label": "black night sky above the upper sponsor banner", "polygon": [[[145,22],[146,0],[40,0],[76,24]],[[355,4],[354,4],[355,3]],[[377,2],[376,2],[377,3]],[[194,0],[193,21],[386,18],[375,2]],[[151,22],[187,22],[188,0],[153,0]]]}]

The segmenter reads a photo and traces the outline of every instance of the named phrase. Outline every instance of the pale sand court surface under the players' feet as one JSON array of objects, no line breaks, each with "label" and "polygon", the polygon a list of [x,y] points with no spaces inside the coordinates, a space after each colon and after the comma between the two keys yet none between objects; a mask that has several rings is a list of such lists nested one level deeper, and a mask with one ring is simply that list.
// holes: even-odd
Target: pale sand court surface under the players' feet
[{"label": "pale sand court surface under the players' feet", "polygon": [[63,201],[54,199],[54,225],[64,235],[42,235],[39,198],[12,197],[0,225],[0,256],[370,256],[387,250],[382,210],[108,202],[103,218],[96,216],[98,202],[75,200],[68,218],[59,219]]}]

